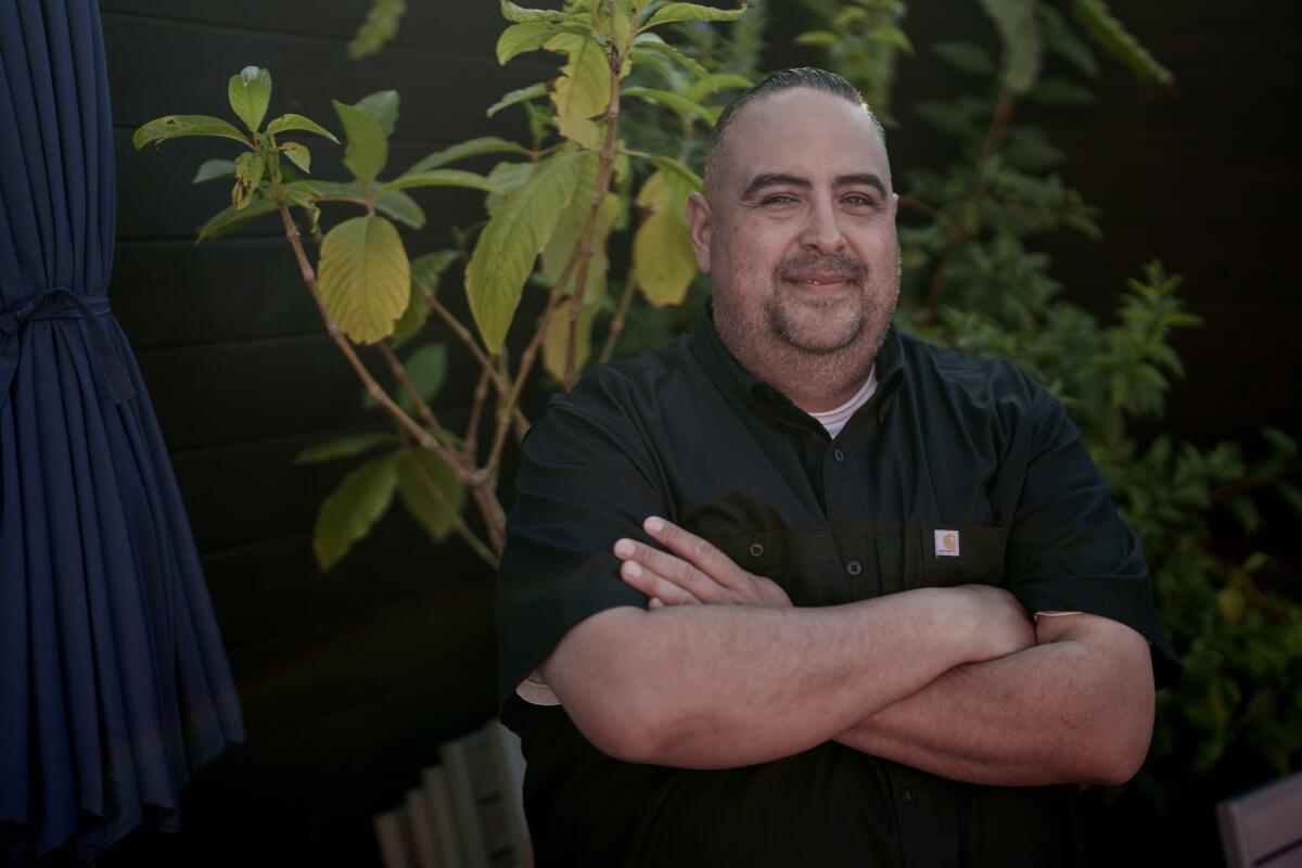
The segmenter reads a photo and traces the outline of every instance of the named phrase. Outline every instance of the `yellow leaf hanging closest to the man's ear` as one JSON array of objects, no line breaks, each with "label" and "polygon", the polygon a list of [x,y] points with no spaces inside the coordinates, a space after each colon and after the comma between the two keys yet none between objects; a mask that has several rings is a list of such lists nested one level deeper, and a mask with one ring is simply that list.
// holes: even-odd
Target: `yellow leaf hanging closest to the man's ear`
[{"label": "yellow leaf hanging closest to the man's ear", "polygon": [[682,303],[697,276],[684,215],[687,194],[687,186],[665,172],[651,174],[638,191],[646,217],[633,237],[633,267],[638,286],[656,307]]}]

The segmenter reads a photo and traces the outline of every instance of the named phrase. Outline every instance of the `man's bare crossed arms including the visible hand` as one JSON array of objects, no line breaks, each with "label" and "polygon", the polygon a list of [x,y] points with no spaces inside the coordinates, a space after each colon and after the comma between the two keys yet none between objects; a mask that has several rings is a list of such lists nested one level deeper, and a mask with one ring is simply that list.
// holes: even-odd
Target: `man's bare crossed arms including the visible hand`
[{"label": "man's bare crossed arms including the visible hand", "polygon": [[587,618],[542,666],[612,756],[733,768],[835,739],[1008,786],[1121,783],[1143,763],[1152,670],[1125,625],[1069,614],[1032,627],[986,586],[793,608],[704,540],[659,519],[646,530],[668,550],[615,550],[650,608]]}]

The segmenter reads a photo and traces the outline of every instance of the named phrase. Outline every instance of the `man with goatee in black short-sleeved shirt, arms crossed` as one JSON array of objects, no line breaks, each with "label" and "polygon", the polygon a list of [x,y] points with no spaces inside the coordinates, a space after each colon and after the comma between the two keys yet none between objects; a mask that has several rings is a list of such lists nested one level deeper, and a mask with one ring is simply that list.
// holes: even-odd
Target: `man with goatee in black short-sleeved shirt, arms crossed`
[{"label": "man with goatee in black short-sleeved shirt, arms crossed", "polygon": [[897,203],[850,85],[756,85],[689,204],[697,334],[526,440],[499,644],[539,864],[1075,864],[1070,785],[1143,761],[1173,657],[1135,537],[1057,401],[891,325]]}]

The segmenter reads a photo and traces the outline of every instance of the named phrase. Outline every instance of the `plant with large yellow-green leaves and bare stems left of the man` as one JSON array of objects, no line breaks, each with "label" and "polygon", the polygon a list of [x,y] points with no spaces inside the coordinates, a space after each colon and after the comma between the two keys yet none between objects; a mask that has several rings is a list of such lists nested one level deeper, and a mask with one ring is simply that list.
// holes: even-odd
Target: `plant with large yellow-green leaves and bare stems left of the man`
[{"label": "plant with large yellow-green leaves and bare stems left of the man", "polygon": [[[506,94],[487,109],[490,116],[510,107],[526,112],[529,143],[477,138],[392,174],[388,139],[400,100],[396,91],[381,91],[333,103],[350,180],[309,178],[311,152],[288,134],[339,139],[298,115],[263,125],[271,74],[256,66],[228,83],[243,130],[217,117],[169,115],[141,126],[133,139],[142,148],[207,135],[242,147],[236,159],[210,160],[195,174],[195,182],[232,181],[230,206],[199,229],[199,239],[276,212],[326,331],[368,401],[393,422],[392,432],[350,435],[298,457],[301,463],[368,457],[322,504],[312,539],[322,569],[365,537],[395,500],[434,539],[457,534],[495,565],[505,543],[497,475],[508,442],[527,429],[521,398],[531,375],[542,368],[569,388],[590,360],[609,358],[635,293],[652,306],[678,305],[697,276],[684,210],[700,180],[681,160],[677,139],[708,131],[719,112],[710,100],[750,82],[711,73],[661,34],[685,22],[736,21],[743,10],[646,0],[572,0],[562,9],[500,5],[508,21],[496,47],[500,62],[530,51],[562,61],[551,81]],[[392,38],[402,10],[402,3],[376,3],[354,53]],[[634,77],[648,66],[654,75]],[[648,147],[628,142],[621,118],[630,102],[637,111],[672,116],[677,137]],[[449,168],[484,156],[504,159],[487,174]],[[443,186],[483,193],[487,220],[456,230],[457,249],[411,258],[398,226],[419,229],[426,216],[409,191]],[[353,216],[335,221],[348,210]],[[305,246],[303,232],[314,237],[315,251]],[[616,306],[612,251],[630,263],[613,319],[607,316]],[[439,298],[444,276],[462,263],[470,324]],[[542,315],[523,347],[510,353],[508,336],[535,285],[547,292]],[[430,318],[450,328],[479,368],[469,420],[457,433],[431,407],[447,379],[447,347],[406,346]],[[600,353],[592,337],[598,320],[607,332]],[[378,357],[388,384],[363,354]],[[469,504],[487,539],[464,518]]]}]

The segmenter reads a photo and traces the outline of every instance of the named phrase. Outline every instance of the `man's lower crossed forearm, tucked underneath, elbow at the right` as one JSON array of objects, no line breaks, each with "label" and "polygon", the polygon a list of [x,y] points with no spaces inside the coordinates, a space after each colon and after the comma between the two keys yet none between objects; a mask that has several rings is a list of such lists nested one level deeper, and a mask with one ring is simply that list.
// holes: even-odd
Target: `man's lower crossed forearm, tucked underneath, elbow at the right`
[{"label": "man's lower crossed forearm, tucked underneath, elbow at the right", "polygon": [[1147,643],[1109,622],[952,669],[836,740],[943,777],[1121,783],[1152,734]]}]

